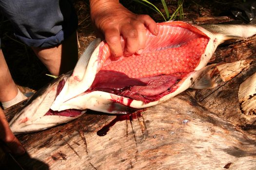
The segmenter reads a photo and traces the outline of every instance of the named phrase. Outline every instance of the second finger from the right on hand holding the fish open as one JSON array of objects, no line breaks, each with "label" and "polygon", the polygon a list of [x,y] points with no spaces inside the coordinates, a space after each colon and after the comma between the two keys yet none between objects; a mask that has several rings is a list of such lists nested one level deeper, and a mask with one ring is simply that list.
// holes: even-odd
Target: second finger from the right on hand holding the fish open
[{"label": "second finger from the right on hand holding the fish open", "polygon": [[146,28],[143,23],[139,22],[138,20],[132,20],[131,24],[138,32],[138,48],[136,53],[141,54],[143,49],[145,48],[146,43]]}]

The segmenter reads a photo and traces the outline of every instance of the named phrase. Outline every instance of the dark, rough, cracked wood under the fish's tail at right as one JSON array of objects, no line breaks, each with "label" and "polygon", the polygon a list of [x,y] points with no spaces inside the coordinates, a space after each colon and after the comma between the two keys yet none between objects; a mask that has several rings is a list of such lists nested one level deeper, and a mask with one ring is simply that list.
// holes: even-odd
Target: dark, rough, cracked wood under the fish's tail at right
[{"label": "dark, rough, cracked wood under the fish's tail at right", "polygon": [[[235,126],[250,131],[252,134],[256,134],[256,115],[243,114],[241,102],[238,99],[238,91],[240,85],[256,72],[255,54],[256,36],[226,47],[218,47],[210,63],[220,64],[218,71],[220,71],[222,78],[215,77],[215,79],[221,83],[213,89],[193,91],[196,93],[197,101],[209,111],[229,120]],[[231,62],[236,62],[236,67]],[[230,68],[225,65],[222,65],[224,67],[221,68],[221,63],[230,63]]]}]

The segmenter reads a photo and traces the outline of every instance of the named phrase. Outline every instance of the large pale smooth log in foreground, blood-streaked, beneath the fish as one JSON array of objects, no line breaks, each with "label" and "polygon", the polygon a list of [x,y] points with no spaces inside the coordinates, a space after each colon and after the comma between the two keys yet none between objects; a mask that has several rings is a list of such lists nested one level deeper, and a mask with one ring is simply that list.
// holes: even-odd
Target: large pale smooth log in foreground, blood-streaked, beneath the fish
[{"label": "large pale smooth log in foreground, blood-streaked, beneath the fish", "polygon": [[216,116],[185,93],[128,116],[89,111],[72,122],[18,138],[27,151],[16,157],[24,169],[256,167],[256,136]]}]

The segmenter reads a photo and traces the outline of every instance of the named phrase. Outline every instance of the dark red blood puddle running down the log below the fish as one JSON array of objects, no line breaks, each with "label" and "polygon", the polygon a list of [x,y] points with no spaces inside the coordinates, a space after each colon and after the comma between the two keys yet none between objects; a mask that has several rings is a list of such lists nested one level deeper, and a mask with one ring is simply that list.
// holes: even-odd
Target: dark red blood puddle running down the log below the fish
[{"label": "dark red blood puddle running down the log below the fish", "polygon": [[108,131],[112,126],[114,126],[118,121],[123,121],[123,120],[130,120],[133,121],[134,119],[137,119],[138,117],[141,117],[141,112],[143,109],[137,110],[134,113],[131,114],[126,114],[126,115],[117,115],[115,119],[113,119],[110,123],[107,125],[103,126],[100,130],[97,131],[98,136],[105,136],[107,135]]}]

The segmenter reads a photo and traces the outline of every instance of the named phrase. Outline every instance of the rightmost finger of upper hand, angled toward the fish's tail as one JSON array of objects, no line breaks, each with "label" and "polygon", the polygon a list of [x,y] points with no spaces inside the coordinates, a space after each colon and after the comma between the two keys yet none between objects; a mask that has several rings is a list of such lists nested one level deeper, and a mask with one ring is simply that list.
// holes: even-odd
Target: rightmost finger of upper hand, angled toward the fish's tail
[{"label": "rightmost finger of upper hand, angled toward the fish's tail", "polygon": [[148,15],[138,15],[137,19],[138,21],[142,22],[152,34],[158,34],[159,28],[157,26],[157,23],[151,17],[149,17]]}]

